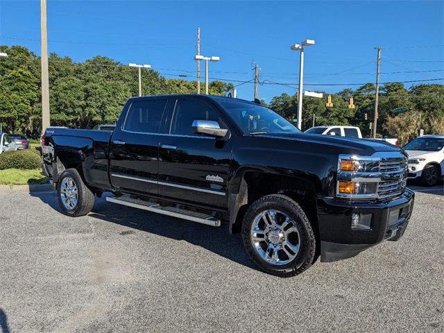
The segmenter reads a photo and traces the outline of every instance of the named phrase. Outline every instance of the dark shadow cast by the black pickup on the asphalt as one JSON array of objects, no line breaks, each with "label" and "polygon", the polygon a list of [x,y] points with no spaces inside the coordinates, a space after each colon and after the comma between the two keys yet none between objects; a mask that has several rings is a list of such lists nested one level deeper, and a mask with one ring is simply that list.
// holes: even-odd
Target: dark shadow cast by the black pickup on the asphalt
[{"label": "dark shadow cast by the black pickup on the asphalt", "polygon": [[[34,192],[31,195],[37,196],[42,202],[61,213],[55,191]],[[230,259],[232,262],[258,271],[256,266],[250,261],[250,258],[248,258],[248,255],[246,255],[241,235],[231,235],[228,232],[228,223],[222,223],[221,227],[214,228],[210,225],[108,203],[104,197],[96,198],[94,208],[88,216],[123,225],[133,230],[157,234],[177,241],[187,241],[189,244],[200,246],[221,257]],[[132,232],[133,230],[124,230],[119,232],[119,234],[122,237],[127,237],[128,234],[134,233]]]}]

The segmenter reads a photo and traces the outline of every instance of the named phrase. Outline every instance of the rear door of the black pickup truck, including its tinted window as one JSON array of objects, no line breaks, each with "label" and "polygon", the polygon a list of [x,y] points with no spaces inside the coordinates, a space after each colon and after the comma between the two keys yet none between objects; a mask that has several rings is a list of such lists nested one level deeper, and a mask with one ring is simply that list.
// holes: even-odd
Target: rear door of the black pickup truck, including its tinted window
[{"label": "rear door of the black pickup truck, including its tinted window", "polygon": [[110,143],[113,187],[137,194],[157,194],[160,127],[167,99],[136,99],[119,121]]}]

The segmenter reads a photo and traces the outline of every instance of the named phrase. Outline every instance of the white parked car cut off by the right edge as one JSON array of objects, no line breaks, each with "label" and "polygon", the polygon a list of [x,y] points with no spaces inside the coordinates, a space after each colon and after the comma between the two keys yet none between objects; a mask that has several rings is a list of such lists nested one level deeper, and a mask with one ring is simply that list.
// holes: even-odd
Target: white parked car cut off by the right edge
[{"label": "white parked car cut off by the right edge", "polygon": [[409,179],[434,186],[444,177],[444,135],[423,135],[404,147],[409,154]]}]

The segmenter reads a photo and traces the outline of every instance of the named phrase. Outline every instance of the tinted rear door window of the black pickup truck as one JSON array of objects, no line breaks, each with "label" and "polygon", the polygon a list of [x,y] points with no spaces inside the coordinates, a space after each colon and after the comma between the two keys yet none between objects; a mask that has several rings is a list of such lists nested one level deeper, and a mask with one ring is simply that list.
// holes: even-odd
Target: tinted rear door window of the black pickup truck
[{"label": "tinted rear door window of the black pickup truck", "polygon": [[137,133],[159,133],[167,100],[136,101],[130,106],[123,130]]}]

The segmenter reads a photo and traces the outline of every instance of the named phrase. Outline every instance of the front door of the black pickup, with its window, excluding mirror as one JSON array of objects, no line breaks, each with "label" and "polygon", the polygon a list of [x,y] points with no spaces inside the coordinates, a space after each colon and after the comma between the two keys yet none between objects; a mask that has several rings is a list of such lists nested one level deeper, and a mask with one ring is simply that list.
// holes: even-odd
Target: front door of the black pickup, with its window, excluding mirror
[{"label": "front door of the black pickup, with its window, excluding mirror", "polygon": [[218,121],[221,128],[226,128],[211,105],[178,99],[169,135],[162,135],[160,142],[159,194],[190,205],[223,210],[227,207],[232,140],[193,133],[194,120]]}]

